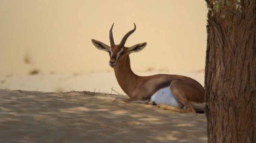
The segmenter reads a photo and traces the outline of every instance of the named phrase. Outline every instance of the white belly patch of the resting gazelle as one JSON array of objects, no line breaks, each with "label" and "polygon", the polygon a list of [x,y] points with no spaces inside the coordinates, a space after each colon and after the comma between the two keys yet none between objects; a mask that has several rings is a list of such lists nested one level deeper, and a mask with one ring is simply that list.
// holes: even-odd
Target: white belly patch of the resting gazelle
[{"label": "white belly patch of the resting gazelle", "polygon": [[149,102],[155,102],[156,104],[165,104],[174,106],[176,108],[182,108],[183,104],[171,93],[170,87],[162,88],[151,96]]}]

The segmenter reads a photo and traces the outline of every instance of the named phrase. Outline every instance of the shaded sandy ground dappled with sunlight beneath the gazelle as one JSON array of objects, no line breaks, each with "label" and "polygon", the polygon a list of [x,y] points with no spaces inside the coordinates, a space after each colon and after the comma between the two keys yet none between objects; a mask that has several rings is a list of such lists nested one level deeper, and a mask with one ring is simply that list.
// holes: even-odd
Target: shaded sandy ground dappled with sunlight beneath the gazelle
[{"label": "shaded sandy ground dappled with sunlight beneath the gazelle", "polygon": [[0,142],[207,142],[204,114],[96,92],[0,89]]}]

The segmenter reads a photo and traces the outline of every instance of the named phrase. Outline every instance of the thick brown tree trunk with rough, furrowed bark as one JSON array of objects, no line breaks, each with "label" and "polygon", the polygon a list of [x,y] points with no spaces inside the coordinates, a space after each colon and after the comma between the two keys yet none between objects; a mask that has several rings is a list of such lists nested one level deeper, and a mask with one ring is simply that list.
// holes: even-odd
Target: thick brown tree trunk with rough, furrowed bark
[{"label": "thick brown tree trunk with rough, furrowed bark", "polygon": [[214,1],[206,0],[208,142],[256,143],[256,0],[223,0],[217,11]]}]

